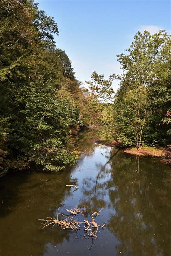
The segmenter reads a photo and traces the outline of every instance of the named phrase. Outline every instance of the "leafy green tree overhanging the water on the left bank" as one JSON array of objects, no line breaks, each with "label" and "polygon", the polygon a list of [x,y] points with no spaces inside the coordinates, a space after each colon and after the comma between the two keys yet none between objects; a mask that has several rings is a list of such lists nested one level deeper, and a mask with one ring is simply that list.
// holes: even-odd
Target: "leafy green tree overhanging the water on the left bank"
[{"label": "leafy green tree overhanging the water on the left bank", "polygon": [[13,122],[17,129],[10,136],[11,147],[27,155],[29,161],[44,165],[45,169],[52,161],[72,164],[74,157],[67,134],[69,126],[77,123],[76,106],[67,98],[58,99],[51,80],[31,82],[29,87],[21,88],[20,95],[17,102],[24,107],[18,120]]}]

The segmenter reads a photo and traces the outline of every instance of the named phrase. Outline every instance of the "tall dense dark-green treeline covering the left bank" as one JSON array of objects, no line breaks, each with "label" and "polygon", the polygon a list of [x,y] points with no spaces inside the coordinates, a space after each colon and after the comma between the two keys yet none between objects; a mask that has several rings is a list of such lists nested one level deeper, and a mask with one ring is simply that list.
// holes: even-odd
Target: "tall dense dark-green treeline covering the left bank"
[{"label": "tall dense dark-green treeline covering the left bank", "polygon": [[1,1],[1,175],[30,162],[44,170],[76,162],[71,133],[84,124],[86,107],[71,61],[55,46],[58,33],[34,0]]}]

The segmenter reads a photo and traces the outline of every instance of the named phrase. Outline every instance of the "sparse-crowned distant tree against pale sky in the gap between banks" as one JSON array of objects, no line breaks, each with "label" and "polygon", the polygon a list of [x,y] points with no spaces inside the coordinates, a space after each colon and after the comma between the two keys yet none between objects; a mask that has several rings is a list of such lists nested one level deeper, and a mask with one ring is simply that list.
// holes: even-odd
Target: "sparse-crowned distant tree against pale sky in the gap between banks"
[{"label": "sparse-crowned distant tree against pale sky in the gap between banks", "polygon": [[91,80],[86,81],[89,90],[97,97],[101,104],[112,100],[112,94],[114,93],[112,81],[114,77],[115,75],[113,74],[108,80],[105,80],[104,75],[98,75],[96,72],[93,72]]}]

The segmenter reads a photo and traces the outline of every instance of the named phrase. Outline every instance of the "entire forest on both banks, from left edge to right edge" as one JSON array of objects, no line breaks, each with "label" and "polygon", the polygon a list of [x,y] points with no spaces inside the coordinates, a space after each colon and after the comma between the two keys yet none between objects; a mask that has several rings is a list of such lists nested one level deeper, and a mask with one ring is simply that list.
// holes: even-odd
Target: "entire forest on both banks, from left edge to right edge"
[{"label": "entire forest on both banks, from left edge to right edge", "polygon": [[117,55],[122,74],[113,70],[106,79],[94,71],[80,82],[67,53],[56,47],[56,21],[38,7],[34,0],[0,3],[0,175],[32,164],[46,171],[75,165],[74,136],[82,127],[96,127],[119,147],[168,146],[168,33],[138,31]]}]

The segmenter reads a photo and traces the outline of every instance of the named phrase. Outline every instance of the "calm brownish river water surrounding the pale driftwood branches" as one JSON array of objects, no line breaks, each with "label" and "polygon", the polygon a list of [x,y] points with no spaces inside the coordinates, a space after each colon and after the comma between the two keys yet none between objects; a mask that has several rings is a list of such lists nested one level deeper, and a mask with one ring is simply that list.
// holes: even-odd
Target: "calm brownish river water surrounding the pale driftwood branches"
[{"label": "calm brownish river water surrounding the pale driftwood branches", "polygon": [[[79,135],[78,164],[62,172],[27,170],[0,179],[0,256],[170,255],[170,167],[154,157],[134,156]],[[66,187],[75,184],[78,190]],[[94,211],[97,239],[83,230],[42,229],[58,208]],[[82,221],[82,217],[76,217]]]}]

